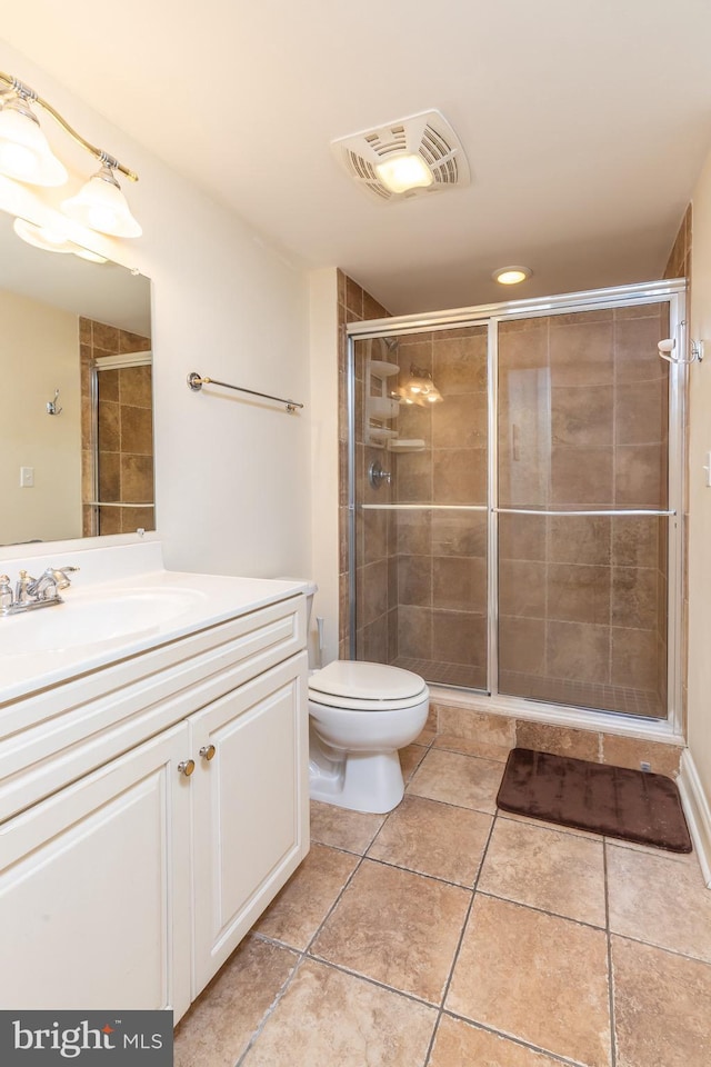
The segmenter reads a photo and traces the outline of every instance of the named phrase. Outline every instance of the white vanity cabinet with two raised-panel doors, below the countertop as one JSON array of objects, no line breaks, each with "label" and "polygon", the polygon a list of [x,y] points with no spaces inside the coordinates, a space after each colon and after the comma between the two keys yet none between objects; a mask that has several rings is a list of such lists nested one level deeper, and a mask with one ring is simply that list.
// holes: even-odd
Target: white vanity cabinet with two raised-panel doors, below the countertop
[{"label": "white vanity cabinet with two raised-panel doors, below the countertop", "polygon": [[176,1020],[308,838],[302,596],[0,708],[0,1005]]}]

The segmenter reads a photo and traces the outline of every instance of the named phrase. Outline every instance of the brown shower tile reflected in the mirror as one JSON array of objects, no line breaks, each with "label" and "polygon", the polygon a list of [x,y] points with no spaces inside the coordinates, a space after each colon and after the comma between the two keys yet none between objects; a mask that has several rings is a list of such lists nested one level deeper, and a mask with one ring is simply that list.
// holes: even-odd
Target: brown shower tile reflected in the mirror
[{"label": "brown shower tile reflected in the mirror", "polygon": [[[93,496],[91,367],[101,356],[147,351],[150,338],[91,319],[79,320],[82,391],[82,499]],[[153,423],[150,367],[101,372],[99,399],[99,499],[151,502],[153,492]],[[99,529],[93,508],[83,506],[84,536],[124,534],[156,528],[152,508],[101,508]]]}]

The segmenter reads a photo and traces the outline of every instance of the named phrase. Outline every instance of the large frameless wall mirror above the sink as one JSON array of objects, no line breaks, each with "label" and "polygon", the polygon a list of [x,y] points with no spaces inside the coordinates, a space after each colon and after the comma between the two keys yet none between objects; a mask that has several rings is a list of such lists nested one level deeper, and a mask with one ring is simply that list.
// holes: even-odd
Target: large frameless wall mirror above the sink
[{"label": "large frameless wall mirror above the sink", "polygon": [[0,546],[156,528],[150,306],[0,215]]}]

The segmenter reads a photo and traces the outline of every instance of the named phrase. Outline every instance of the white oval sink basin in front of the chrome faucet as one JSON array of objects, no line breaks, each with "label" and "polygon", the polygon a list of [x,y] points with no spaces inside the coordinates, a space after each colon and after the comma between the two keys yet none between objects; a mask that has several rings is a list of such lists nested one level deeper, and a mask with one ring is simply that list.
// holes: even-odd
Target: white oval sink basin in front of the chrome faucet
[{"label": "white oval sink basin in front of the chrome faucet", "polygon": [[0,661],[3,656],[138,637],[192,611],[204,599],[197,589],[130,588],[78,596],[70,590],[63,604],[0,618]]}]

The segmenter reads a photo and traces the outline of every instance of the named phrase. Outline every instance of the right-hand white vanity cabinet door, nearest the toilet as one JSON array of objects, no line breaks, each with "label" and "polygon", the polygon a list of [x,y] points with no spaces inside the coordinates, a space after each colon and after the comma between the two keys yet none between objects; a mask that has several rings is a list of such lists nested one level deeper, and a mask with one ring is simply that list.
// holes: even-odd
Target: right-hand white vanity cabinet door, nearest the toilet
[{"label": "right-hand white vanity cabinet door, nearest the toilet", "polygon": [[193,996],[309,849],[306,676],[302,652],[189,719]]}]

